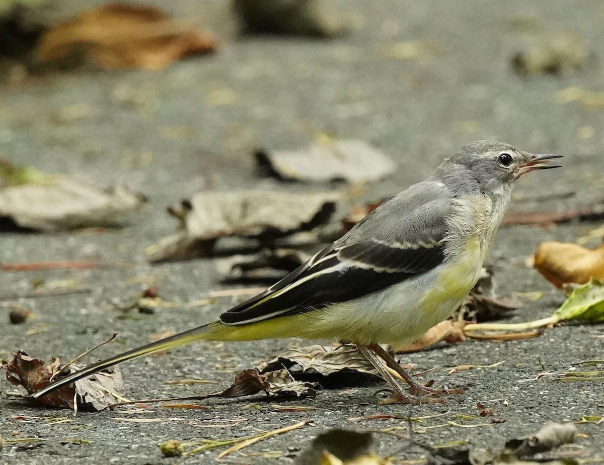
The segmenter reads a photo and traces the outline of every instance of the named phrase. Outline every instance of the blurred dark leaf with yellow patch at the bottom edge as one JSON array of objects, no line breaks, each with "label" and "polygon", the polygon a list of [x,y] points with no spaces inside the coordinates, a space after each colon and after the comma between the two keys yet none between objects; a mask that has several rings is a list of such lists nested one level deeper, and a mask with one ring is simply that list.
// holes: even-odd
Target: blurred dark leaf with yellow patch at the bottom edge
[{"label": "blurred dark leaf with yellow patch at the bottom edge", "polygon": [[313,439],[294,465],[388,465],[375,452],[370,432],[333,428]]}]

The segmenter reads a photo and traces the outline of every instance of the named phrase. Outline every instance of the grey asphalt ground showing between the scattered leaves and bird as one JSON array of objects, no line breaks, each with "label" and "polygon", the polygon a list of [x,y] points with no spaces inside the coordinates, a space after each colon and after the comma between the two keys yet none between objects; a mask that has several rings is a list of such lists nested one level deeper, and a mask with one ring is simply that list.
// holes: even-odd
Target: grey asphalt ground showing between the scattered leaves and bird
[{"label": "grey asphalt ground showing between the scattered leaves and bird", "polygon": [[[74,2],[74,9],[78,3]],[[102,256],[133,264],[117,270],[3,272],[0,292],[27,288],[28,279],[34,277],[79,279],[94,292],[24,300],[34,309],[35,318],[13,326],[7,324],[5,315],[2,317],[2,355],[24,349],[42,358],[69,359],[112,330],[119,331],[119,343],[101,347],[96,354],[109,355],[144,343],[149,335],[213,320],[228,309],[233,300],[121,320],[109,301],[135,293],[140,282],[155,283],[168,300],[193,300],[222,288],[211,261],[151,267],[144,261],[143,248],[173,231],[174,221],[165,214],[170,203],[202,188],[271,186],[255,174],[249,157],[250,150],[258,145],[295,148],[306,145],[318,131],[371,142],[394,157],[399,169],[390,179],[370,186],[365,194],[368,199],[422,179],[452,150],[482,138],[565,155],[564,169],[525,177],[516,190],[519,195],[601,189],[604,113],[587,112],[574,103],[562,105],[553,98],[554,92],[573,85],[601,90],[604,68],[599,57],[579,74],[562,77],[525,79],[513,74],[509,66],[510,55],[521,44],[510,23],[527,13],[535,14],[554,30],[580,34],[591,51],[602,51],[599,2],[472,1],[452,8],[450,2],[442,0],[349,0],[339,6],[352,31],[348,37],[333,41],[239,38],[233,34],[225,1],[158,3],[165,3],[176,16],[194,15],[212,24],[220,39],[219,53],[176,63],[162,72],[74,72],[25,81],[4,89],[0,96],[0,157],[98,183],[126,183],[150,197],[149,208],[133,217],[126,229],[98,235],[0,236],[2,262]],[[412,39],[435,39],[442,53],[432,59],[410,61],[385,56],[392,43]],[[72,106],[83,108],[82,114],[73,116]],[[577,133],[584,126],[593,128],[591,136],[590,130]],[[294,185],[284,188],[299,189]],[[572,241],[594,226],[506,227],[500,231],[492,255],[500,259],[497,278],[502,291],[544,291],[542,299],[524,303],[516,321],[545,317],[563,300],[536,271],[524,266],[525,258],[541,241]],[[51,325],[48,331],[25,334],[43,323]],[[162,458],[156,444],[168,438],[233,438],[313,420],[314,426],[243,449],[246,454],[283,451],[281,458],[230,456],[237,463],[290,463],[292,450],[332,426],[406,425],[401,420],[352,423],[347,421],[350,417],[446,413],[421,424],[440,425],[456,420],[456,414],[477,414],[478,401],[507,422],[474,429],[428,429],[417,438],[428,444],[469,439],[475,444],[501,446],[504,438],[533,431],[548,420],[576,421],[584,415],[602,414],[602,397],[593,395],[602,394],[600,382],[535,378],[544,370],[562,372],[571,369],[574,362],[602,358],[602,339],[593,338],[601,332],[599,326],[564,326],[534,340],[469,341],[403,356],[402,362],[417,365],[417,370],[442,367],[422,379],[434,378],[439,384],[466,390],[444,405],[428,404],[413,410],[404,405],[377,406],[374,393],[382,384],[367,383],[290,402],[318,409],[298,413],[274,411],[271,402],[260,396],[205,402],[209,410],[156,406],[138,414],[112,411],[71,417],[67,410],[29,406],[10,396],[15,388],[0,381],[0,435],[7,438],[12,431],[19,431],[27,437],[47,439],[33,445],[7,444],[0,457],[11,464],[74,463],[74,458],[86,458],[78,463],[176,463],[179,460]],[[226,387],[234,372],[252,367],[289,344],[307,341],[206,342],[174,350],[170,356],[132,362],[121,367],[124,395],[130,399],[184,396]],[[448,367],[455,365],[499,361],[505,363],[447,374]],[[162,384],[176,378],[209,379],[216,384]],[[249,402],[258,403],[262,410],[245,409]],[[42,420],[16,421],[13,416],[69,417],[72,421],[47,425]],[[184,421],[123,423],[114,417],[176,417]],[[240,417],[247,420],[231,428],[211,426]],[[488,422],[458,421],[464,425]],[[84,426],[70,429],[75,425]],[[578,441],[585,454],[602,457],[602,426],[579,425],[579,429],[585,435]],[[60,443],[64,438],[85,438],[92,443]],[[408,452],[402,440],[379,435],[377,441],[381,454],[419,457]],[[210,463],[217,454],[211,451],[186,461]]]}]

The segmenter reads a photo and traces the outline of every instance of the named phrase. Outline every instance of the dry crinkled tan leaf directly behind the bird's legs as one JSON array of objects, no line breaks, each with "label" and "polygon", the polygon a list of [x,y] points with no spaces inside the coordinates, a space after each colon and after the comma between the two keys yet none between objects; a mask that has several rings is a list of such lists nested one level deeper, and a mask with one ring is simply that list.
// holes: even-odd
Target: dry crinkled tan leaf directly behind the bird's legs
[{"label": "dry crinkled tan leaf directly behind the bird's legs", "polygon": [[318,344],[288,350],[281,355],[262,362],[256,367],[260,373],[286,369],[296,379],[315,379],[345,373],[364,373],[379,376],[355,346],[342,344],[338,347],[324,347]]}]

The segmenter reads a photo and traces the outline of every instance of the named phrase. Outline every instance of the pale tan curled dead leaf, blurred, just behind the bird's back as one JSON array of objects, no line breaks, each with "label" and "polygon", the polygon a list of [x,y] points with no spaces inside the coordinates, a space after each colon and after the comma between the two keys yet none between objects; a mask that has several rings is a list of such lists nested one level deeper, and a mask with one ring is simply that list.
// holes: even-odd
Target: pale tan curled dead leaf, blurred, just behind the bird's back
[{"label": "pale tan curled dead leaf, blurred, just behind the bird's back", "polygon": [[220,238],[271,241],[309,231],[329,223],[340,198],[338,192],[200,192],[169,210],[181,230],[146,253],[153,262],[203,258]]}]

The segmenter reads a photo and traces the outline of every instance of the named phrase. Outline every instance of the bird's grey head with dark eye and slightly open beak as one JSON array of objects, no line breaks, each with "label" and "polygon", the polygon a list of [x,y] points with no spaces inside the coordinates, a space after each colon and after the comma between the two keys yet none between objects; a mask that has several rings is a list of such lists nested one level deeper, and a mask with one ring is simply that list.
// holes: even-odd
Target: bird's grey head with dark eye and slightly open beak
[{"label": "bird's grey head with dark eye and slightly open beak", "polygon": [[446,159],[439,171],[469,176],[484,194],[498,195],[509,192],[529,171],[559,168],[562,165],[550,165],[549,160],[560,157],[528,153],[504,142],[475,141]]}]

